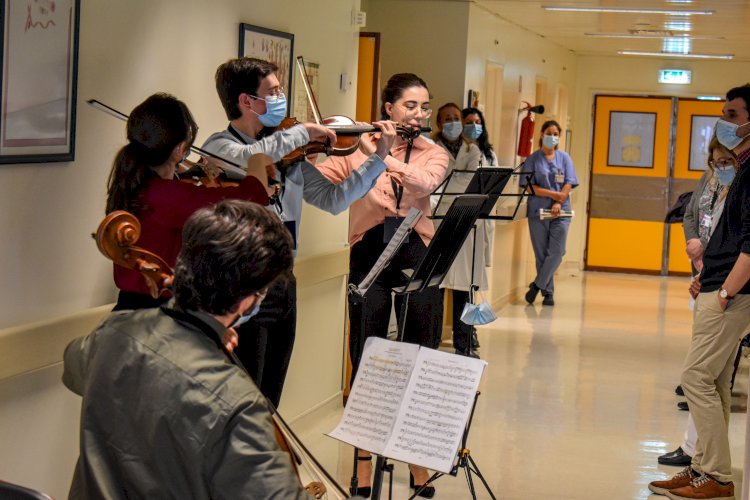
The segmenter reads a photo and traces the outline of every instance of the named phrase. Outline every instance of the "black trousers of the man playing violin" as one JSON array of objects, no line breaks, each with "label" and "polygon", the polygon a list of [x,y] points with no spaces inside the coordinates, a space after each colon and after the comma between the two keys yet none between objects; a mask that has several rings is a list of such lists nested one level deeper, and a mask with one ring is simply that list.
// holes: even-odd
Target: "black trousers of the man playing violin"
[{"label": "black trousers of the man playing violin", "polygon": [[274,281],[258,314],[237,329],[234,352],[263,393],[278,408],[297,331],[297,280],[289,272]]}]

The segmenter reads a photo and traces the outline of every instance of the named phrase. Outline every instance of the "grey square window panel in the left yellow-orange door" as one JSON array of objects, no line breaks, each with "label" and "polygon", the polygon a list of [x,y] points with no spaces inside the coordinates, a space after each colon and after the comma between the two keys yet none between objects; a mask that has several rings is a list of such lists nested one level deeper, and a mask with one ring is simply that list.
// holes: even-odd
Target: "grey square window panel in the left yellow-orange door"
[{"label": "grey square window panel in the left yellow-orange door", "polygon": [[656,113],[611,111],[607,165],[654,168]]}]

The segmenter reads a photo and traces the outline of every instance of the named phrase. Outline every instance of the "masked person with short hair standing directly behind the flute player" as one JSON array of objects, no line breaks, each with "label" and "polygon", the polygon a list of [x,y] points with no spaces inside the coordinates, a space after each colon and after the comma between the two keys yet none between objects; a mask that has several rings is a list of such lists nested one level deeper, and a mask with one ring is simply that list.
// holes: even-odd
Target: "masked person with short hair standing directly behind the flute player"
[{"label": "masked person with short hair standing directly behind the flute player", "polygon": [[[481,152],[476,144],[473,144],[463,136],[463,120],[461,109],[457,104],[449,102],[438,109],[437,112],[437,130],[432,138],[435,144],[442,147],[448,152],[448,172],[452,173],[450,182],[445,186],[447,193],[463,193],[471,182],[474,174],[461,172],[461,170],[476,170],[481,162]],[[458,171],[458,172],[457,172]],[[443,196],[439,201],[435,215],[445,215],[448,208],[453,203],[455,196]],[[435,229],[442,219],[434,219]],[[484,221],[478,220],[475,232],[466,238],[461,250],[453,265],[445,275],[440,288],[450,290],[453,302],[453,347],[456,354],[478,358],[475,352],[478,342],[475,344],[476,329],[472,325],[467,325],[461,321],[461,313],[464,306],[470,301],[471,287],[477,286],[479,289],[487,289],[487,273],[484,271],[485,260],[487,255],[484,252],[486,231]],[[474,241],[477,245],[474,245]],[[472,255],[473,251],[473,255]],[[473,271],[472,276],[472,260]],[[444,292],[445,293],[445,292]]]}]

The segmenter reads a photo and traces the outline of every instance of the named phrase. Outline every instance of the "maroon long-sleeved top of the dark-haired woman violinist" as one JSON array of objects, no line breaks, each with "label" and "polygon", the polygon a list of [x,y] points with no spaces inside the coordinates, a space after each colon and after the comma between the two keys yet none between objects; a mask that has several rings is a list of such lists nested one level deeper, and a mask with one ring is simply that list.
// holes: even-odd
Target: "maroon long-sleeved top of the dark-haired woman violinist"
[{"label": "maroon long-sleeved top of the dark-haired woman violinist", "polygon": [[[141,222],[136,245],[155,253],[174,268],[182,246],[182,226],[193,212],[226,198],[268,205],[268,194],[255,177],[245,177],[237,187],[207,188],[161,178],[149,179],[141,188],[143,209],[134,214]],[[138,271],[115,264],[115,285],[126,292],[149,295],[146,280]]]}]

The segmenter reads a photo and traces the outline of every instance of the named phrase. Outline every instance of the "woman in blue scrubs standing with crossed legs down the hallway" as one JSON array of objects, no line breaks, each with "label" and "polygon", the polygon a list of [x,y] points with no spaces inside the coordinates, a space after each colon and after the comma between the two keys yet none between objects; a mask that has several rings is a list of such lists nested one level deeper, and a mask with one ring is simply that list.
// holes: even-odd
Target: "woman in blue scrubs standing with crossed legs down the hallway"
[{"label": "woman in blue scrubs standing with crossed legs down the hallway", "polygon": [[524,162],[519,184],[531,183],[534,196],[527,205],[531,246],[536,258],[536,278],[529,284],[526,302],[533,304],[537,294],[542,292],[545,306],[554,306],[555,271],[565,255],[570,219],[553,217],[542,220],[539,210],[550,210],[553,216],[560,211],[570,210],[570,191],[578,186],[573,160],[564,151],[559,151],[562,128],[554,120],[544,122],[539,138],[539,149]]}]

